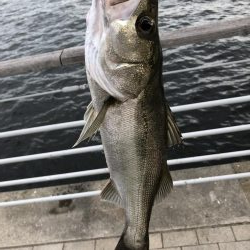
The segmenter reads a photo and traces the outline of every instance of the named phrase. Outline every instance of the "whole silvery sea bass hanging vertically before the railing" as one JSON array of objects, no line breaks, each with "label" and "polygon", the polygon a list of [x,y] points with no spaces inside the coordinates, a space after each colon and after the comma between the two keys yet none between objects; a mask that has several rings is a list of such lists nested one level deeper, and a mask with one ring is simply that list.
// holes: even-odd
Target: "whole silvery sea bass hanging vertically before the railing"
[{"label": "whole silvery sea bass hanging vertically before the railing", "polygon": [[76,145],[100,130],[110,170],[101,198],[126,216],[116,250],[148,250],[152,207],[173,186],[166,149],[182,140],[164,98],[158,0],[92,0],[85,64],[92,102]]}]

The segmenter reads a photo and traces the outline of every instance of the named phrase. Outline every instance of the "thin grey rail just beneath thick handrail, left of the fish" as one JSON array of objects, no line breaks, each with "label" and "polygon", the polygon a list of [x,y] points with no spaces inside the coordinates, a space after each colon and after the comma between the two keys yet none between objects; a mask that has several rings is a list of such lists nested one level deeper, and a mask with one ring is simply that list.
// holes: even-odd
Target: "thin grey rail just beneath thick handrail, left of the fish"
[{"label": "thin grey rail just beneath thick handrail, left of the fish", "polygon": [[62,89],[58,89],[58,90],[45,91],[42,93],[35,93],[35,94],[30,94],[30,95],[10,97],[10,98],[0,100],[0,103],[10,102],[10,101],[18,101],[18,100],[23,100],[23,99],[27,99],[27,98],[34,98],[34,97],[39,97],[39,96],[54,95],[54,94],[59,94],[59,93],[69,93],[69,92],[84,90],[87,87],[88,87],[87,84],[84,84],[81,86],[77,86],[77,85],[69,86],[69,87],[64,87]]}]

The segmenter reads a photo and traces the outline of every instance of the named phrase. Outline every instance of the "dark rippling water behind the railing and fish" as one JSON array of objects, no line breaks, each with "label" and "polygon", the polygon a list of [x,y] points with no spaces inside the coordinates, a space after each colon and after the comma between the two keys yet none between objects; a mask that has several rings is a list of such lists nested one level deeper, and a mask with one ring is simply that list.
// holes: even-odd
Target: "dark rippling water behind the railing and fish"
[{"label": "dark rippling water behind the railing and fish", "polygon": [[[246,17],[249,0],[160,1],[160,31],[176,30],[216,20]],[[0,60],[45,53],[84,44],[85,16],[90,1],[1,0]],[[205,63],[250,57],[250,37],[234,37],[164,50],[164,72]],[[171,106],[250,94],[250,63],[166,76]],[[0,98],[38,93],[86,83],[83,66],[53,69],[0,79]],[[0,131],[80,120],[90,102],[88,89],[0,104]],[[250,123],[249,104],[176,114],[182,132]],[[70,149],[79,129],[0,140],[0,158]],[[171,149],[171,158],[222,153],[250,148],[250,133],[234,133],[185,141]],[[100,143],[97,135],[82,146]],[[68,156],[3,165],[0,180],[105,167],[103,153]],[[181,166],[192,167],[192,165]]]}]

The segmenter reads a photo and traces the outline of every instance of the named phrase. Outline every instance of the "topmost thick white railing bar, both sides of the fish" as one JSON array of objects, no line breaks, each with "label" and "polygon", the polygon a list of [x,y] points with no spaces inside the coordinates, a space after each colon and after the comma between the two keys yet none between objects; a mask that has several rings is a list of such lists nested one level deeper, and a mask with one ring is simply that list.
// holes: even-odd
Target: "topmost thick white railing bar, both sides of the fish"
[{"label": "topmost thick white railing bar, both sides of the fish", "polygon": [[[177,112],[190,111],[190,110],[196,110],[196,109],[202,109],[202,108],[217,107],[220,105],[244,103],[244,102],[249,102],[249,101],[250,101],[250,95],[215,100],[215,101],[208,101],[208,102],[200,102],[200,103],[194,103],[194,104],[186,104],[186,105],[172,107],[171,109],[173,112],[177,113]],[[33,128],[25,128],[25,129],[0,132],[0,139],[14,137],[14,136],[42,133],[42,132],[50,132],[50,131],[61,130],[61,129],[76,128],[76,127],[81,127],[84,124],[85,124],[84,121],[73,121],[73,122],[65,122],[65,123],[45,125],[45,126],[39,126],[39,127],[33,127]]]}]

